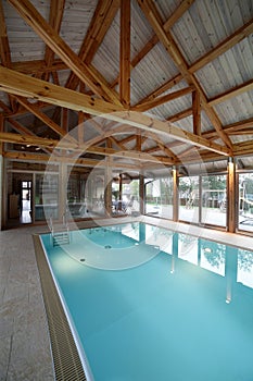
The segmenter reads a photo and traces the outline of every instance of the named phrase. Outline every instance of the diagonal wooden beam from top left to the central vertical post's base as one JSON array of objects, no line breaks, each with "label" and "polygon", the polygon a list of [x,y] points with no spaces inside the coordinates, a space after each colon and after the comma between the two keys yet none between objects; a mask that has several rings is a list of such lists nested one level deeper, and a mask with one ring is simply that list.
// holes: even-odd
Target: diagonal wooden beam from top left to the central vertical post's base
[{"label": "diagonal wooden beam from top left to the central vertical post's base", "polygon": [[40,15],[29,0],[9,0],[28,25],[42,38],[42,40],[58,54],[63,62],[99,96],[107,101],[119,105],[115,94],[93,75],[89,66],[64,42],[54,29]]}]

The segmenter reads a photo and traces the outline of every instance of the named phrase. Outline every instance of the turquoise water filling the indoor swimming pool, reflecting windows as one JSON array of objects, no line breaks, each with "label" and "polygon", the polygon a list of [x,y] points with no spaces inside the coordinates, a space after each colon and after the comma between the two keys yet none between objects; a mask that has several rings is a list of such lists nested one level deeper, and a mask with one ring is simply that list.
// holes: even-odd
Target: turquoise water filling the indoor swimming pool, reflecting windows
[{"label": "turquoise water filling the indoor swimming pool, reflecting windows", "polygon": [[41,239],[93,380],[253,380],[252,251],[142,223]]}]

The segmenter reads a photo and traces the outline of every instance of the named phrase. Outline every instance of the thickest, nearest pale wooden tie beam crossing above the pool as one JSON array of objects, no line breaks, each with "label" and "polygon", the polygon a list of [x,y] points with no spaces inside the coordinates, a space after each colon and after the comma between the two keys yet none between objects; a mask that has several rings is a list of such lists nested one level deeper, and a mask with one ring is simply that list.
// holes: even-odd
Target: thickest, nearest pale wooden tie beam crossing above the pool
[{"label": "thickest, nearest pale wooden tie beam crossing above the pool", "polygon": [[[154,120],[139,112],[124,111],[101,99],[93,99],[84,94],[62,88],[41,79],[31,78],[2,66],[0,66],[0,90],[14,95],[22,95],[28,98],[40,99],[48,103],[76,111],[103,115],[104,119],[122,123],[123,126],[127,124],[159,135],[170,136],[190,145],[205,147],[206,149],[214,150],[220,155],[231,155],[230,149],[208,142],[201,136],[195,136],[194,134],[182,131],[179,127],[172,125],[169,122]],[[114,131],[115,130],[110,131],[109,133],[112,135]]]}]

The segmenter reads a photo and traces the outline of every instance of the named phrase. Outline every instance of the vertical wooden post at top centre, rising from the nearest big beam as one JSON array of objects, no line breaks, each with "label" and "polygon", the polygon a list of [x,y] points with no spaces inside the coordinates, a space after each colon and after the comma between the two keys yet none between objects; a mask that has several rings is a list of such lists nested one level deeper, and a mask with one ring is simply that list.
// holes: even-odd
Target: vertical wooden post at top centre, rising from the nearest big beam
[{"label": "vertical wooden post at top centre, rising from the nearest big beam", "polygon": [[130,106],[130,0],[121,1],[119,94],[127,108]]}]

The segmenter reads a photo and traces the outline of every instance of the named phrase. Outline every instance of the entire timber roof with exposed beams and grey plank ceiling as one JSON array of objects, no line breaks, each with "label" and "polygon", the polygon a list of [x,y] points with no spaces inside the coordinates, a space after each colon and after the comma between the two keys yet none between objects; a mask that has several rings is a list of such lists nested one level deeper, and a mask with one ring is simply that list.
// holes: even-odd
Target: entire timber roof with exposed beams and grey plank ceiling
[{"label": "entire timber roof with exposed beams and grey plank ceiling", "polygon": [[252,42],[252,0],[0,0],[1,153],[128,169],[251,156]]}]

